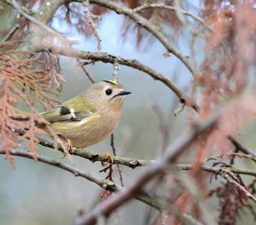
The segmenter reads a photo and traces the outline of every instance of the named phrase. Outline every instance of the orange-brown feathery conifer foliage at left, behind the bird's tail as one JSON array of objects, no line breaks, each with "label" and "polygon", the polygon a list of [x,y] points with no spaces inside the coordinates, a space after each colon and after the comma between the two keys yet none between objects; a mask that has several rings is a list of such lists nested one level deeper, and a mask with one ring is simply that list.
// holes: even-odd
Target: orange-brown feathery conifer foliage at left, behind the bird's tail
[{"label": "orange-brown feathery conifer foliage at left, behind the bird's tail", "polygon": [[[3,45],[0,47],[4,48]],[[44,133],[35,124],[48,124],[37,113],[35,104],[41,104],[45,109],[53,106],[56,101],[49,96],[49,93],[54,93],[50,90],[50,83],[60,85],[62,80],[59,80],[60,77],[53,67],[53,58],[49,65],[45,65],[38,58],[30,57],[29,53],[11,50],[3,50],[0,58],[0,67],[2,68],[0,74],[2,83],[0,92],[1,149],[6,151],[6,157],[13,163],[10,150],[17,148],[17,141],[29,139],[26,148],[35,153],[37,148],[35,134]],[[46,70],[44,66],[47,67]],[[17,107],[17,104],[29,107],[30,112],[23,112]],[[17,121],[13,118],[15,115],[22,115],[24,118],[29,116],[29,120]],[[11,128],[27,130],[27,132],[18,138],[17,133],[13,132]]]}]

